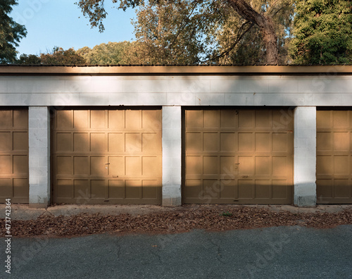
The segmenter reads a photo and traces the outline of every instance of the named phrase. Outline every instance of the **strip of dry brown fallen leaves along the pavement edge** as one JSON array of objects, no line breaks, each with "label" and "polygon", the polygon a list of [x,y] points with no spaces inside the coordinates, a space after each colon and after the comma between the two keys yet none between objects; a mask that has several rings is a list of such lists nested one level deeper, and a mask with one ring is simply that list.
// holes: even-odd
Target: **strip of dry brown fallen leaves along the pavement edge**
[{"label": "strip of dry brown fallen leaves along the pavement edge", "polygon": [[[5,223],[1,219],[1,223]],[[253,206],[182,206],[170,211],[146,214],[79,213],[54,216],[44,213],[35,220],[13,220],[14,237],[75,237],[101,233],[182,233],[189,230],[238,230],[272,226],[301,225],[310,228],[333,228],[352,224],[352,209],[337,213],[322,211],[293,213]],[[5,225],[0,233],[5,235]]]}]

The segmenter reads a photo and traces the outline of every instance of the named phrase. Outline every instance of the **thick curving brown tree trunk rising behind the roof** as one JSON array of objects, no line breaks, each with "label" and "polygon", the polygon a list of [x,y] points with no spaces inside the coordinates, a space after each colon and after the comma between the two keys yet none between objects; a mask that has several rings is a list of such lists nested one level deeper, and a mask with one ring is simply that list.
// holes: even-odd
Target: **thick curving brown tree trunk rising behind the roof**
[{"label": "thick curving brown tree trunk rising behind the roof", "polygon": [[277,35],[275,33],[274,25],[270,17],[265,16],[264,13],[258,13],[253,10],[251,5],[246,0],[225,0],[234,11],[236,11],[245,20],[251,21],[258,25],[261,34],[263,35],[263,42],[265,44],[266,56],[265,60],[268,65],[276,65],[278,62],[278,48]]}]

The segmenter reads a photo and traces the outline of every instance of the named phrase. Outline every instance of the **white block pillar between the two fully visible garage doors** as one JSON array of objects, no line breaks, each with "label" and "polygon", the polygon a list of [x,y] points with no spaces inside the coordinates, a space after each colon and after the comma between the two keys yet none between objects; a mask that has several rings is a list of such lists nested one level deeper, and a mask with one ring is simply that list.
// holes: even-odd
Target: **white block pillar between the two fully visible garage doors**
[{"label": "white block pillar between the two fully visible garage doors", "polygon": [[163,106],[163,206],[181,205],[181,107]]}]

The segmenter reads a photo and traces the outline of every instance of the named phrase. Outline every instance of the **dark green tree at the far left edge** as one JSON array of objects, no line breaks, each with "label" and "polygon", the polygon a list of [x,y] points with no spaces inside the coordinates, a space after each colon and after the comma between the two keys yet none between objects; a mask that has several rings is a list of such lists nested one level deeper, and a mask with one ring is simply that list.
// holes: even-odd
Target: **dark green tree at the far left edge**
[{"label": "dark green tree at the far left edge", "polygon": [[13,63],[16,60],[16,47],[20,39],[27,35],[24,25],[15,23],[8,16],[16,0],[0,0],[0,63]]}]

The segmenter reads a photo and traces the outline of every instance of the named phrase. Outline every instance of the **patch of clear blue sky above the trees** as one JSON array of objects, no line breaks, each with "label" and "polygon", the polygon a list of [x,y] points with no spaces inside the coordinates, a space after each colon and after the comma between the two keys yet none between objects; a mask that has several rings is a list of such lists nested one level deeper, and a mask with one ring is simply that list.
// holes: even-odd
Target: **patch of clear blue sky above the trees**
[{"label": "patch of clear blue sky above the trees", "polygon": [[108,16],[104,21],[105,31],[91,29],[89,20],[82,16],[77,0],[19,0],[13,6],[11,17],[27,28],[27,37],[23,38],[17,50],[20,54],[41,54],[54,46],[63,49],[93,47],[108,42],[131,41],[134,39],[134,27],[131,18],[135,18],[132,9],[124,12],[113,8],[111,0],[106,0]]}]

